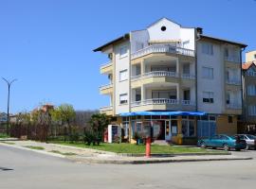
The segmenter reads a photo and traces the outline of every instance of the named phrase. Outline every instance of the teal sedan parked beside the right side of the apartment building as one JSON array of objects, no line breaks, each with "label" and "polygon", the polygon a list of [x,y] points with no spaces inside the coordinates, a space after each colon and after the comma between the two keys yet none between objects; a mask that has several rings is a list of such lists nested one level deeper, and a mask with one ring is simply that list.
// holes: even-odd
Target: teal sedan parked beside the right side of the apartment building
[{"label": "teal sedan parked beside the right side of the apartment building", "polygon": [[234,148],[235,150],[245,149],[247,147],[247,142],[245,140],[240,140],[239,137],[228,136],[226,134],[214,135],[208,139],[201,139],[197,143],[198,146],[202,148],[206,147],[222,147],[225,150]]}]

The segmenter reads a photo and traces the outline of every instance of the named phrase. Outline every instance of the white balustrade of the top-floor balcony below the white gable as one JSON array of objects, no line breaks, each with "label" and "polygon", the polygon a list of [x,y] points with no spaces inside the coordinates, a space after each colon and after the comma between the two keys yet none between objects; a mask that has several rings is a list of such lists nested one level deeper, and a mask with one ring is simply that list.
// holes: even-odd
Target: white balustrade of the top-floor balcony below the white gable
[{"label": "white balustrade of the top-floor balcony below the white gable", "polygon": [[138,50],[131,55],[132,60],[151,53],[174,53],[194,57],[194,51],[191,49],[176,47],[168,44],[153,44]]}]

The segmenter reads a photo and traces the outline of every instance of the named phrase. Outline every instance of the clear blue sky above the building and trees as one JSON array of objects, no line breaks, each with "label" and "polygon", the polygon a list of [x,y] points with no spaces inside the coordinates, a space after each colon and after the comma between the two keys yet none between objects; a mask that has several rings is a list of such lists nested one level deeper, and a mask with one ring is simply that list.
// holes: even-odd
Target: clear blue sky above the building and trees
[{"label": "clear blue sky above the building and trees", "polygon": [[[256,49],[256,0],[0,0],[0,77],[17,78],[10,112],[43,103],[76,110],[109,105],[99,86],[107,57],[92,50],[161,17]],[[8,87],[0,80],[0,112]]]}]

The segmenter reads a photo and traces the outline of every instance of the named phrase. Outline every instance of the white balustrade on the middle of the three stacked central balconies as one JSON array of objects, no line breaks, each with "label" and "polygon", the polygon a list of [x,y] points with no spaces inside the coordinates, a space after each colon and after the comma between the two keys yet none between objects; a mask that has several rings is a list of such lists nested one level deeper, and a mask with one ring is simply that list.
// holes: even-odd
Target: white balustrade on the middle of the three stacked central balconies
[{"label": "white balustrade on the middle of the three stacked central balconies", "polygon": [[138,79],[147,78],[147,77],[178,77],[178,73],[167,72],[167,71],[148,72],[143,75],[131,77],[131,80],[138,80]]}]

